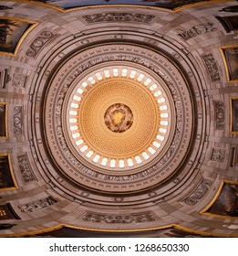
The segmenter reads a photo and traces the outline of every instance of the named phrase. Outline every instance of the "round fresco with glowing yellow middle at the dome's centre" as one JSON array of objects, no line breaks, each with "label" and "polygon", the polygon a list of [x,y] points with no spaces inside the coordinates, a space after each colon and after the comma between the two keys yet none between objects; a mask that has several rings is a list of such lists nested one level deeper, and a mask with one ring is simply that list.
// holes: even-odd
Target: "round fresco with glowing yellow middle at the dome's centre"
[{"label": "round fresco with glowing yellow middle at the dome's centre", "polygon": [[112,104],[104,114],[104,123],[111,132],[124,133],[133,123],[133,113],[125,104]]}]

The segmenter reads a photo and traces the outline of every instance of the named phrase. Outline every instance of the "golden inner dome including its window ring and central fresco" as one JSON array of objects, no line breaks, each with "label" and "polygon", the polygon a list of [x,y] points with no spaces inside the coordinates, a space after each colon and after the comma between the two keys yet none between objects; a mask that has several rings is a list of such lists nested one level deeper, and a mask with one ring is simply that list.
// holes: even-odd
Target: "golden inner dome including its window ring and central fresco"
[{"label": "golden inner dome including its window ring and central fresco", "polygon": [[80,80],[67,109],[67,131],[78,155],[107,169],[148,163],[171,130],[171,107],[160,83],[127,66],[97,69]]}]

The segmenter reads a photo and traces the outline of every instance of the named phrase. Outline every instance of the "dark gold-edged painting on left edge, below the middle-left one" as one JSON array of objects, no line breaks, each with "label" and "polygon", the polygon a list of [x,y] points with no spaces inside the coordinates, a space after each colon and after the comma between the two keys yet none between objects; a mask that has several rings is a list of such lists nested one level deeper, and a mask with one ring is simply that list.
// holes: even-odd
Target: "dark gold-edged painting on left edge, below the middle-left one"
[{"label": "dark gold-edged painting on left edge, below the middle-left one", "polygon": [[8,154],[0,155],[0,190],[16,188]]}]

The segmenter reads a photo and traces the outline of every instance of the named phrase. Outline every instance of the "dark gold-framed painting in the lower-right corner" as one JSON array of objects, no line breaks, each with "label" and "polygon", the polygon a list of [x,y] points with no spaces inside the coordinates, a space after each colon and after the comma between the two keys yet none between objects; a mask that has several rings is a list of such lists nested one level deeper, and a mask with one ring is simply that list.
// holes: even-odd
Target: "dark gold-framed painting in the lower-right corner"
[{"label": "dark gold-framed painting in the lower-right corner", "polygon": [[238,184],[224,182],[220,195],[206,213],[238,217]]}]

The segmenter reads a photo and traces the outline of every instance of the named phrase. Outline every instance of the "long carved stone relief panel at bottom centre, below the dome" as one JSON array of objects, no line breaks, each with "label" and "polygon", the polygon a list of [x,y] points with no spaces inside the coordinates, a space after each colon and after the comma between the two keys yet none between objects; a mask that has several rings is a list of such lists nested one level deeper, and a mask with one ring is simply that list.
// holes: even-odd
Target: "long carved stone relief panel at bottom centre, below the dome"
[{"label": "long carved stone relief panel at bottom centre, below the dome", "polygon": [[130,224],[155,221],[155,218],[148,212],[129,215],[105,215],[90,212],[86,214],[83,220],[105,224]]}]

